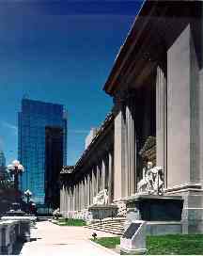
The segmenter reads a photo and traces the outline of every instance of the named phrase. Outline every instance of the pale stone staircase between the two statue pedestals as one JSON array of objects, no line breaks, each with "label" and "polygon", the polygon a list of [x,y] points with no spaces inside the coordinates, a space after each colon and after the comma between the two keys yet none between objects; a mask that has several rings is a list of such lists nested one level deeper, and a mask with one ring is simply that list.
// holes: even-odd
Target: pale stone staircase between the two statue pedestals
[{"label": "pale stone staircase between the two statue pedestals", "polygon": [[93,224],[86,226],[86,229],[92,229],[94,231],[110,232],[117,235],[122,235],[124,232],[125,217],[104,218],[102,221],[97,221]]}]

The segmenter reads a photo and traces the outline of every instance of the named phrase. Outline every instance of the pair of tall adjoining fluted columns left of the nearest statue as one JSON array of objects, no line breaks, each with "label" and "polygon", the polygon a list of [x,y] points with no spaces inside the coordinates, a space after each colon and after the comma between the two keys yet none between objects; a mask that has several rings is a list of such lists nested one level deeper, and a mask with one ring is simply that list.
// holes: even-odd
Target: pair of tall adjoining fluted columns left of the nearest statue
[{"label": "pair of tall adjoining fluted columns left of the nearest statue", "polygon": [[115,173],[117,186],[115,200],[122,200],[135,192],[136,188],[136,135],[134,123],[133,93],[124,93],[115,98]]}]

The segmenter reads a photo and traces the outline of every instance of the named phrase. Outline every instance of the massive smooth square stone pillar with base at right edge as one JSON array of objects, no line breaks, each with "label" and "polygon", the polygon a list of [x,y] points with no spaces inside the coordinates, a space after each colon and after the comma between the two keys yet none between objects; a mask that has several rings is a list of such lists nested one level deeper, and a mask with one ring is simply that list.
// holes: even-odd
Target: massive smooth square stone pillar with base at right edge
[{"label": "massive smooth square stone pillar with base at right edge", "polygon": [[201,232],[203,223],[202,84],[194,40],[188,24],[167,51],[167,191],[184,199],[183,233]]}]

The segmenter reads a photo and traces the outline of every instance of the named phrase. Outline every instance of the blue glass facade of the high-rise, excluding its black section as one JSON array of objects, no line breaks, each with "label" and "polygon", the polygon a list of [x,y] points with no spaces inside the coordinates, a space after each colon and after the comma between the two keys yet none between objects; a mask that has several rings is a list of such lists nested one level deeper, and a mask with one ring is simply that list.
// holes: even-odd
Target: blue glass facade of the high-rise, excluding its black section
[{"label": "blue glass facade of the high-rise, excluding its black section", "polygon": [[[18,154],[24,167],[21,189],[31,190],[32,200],[43,205],[45,203],[46,130],[48,127],[49,129],[57,127],[63,131],[62,165],[66,165],[67,162],[67,118],[64,107],[61,104],[23,99],[18,120]],[[49,171],[51,172],[52,170]],[[59,172],[60,169],[58,169]]]}]

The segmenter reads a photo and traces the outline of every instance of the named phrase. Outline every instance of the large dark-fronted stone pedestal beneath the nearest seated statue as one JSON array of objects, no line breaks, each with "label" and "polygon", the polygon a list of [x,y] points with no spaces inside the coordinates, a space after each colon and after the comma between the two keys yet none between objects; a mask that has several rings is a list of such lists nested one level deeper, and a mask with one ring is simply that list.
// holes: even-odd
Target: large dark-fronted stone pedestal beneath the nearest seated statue
[{"label": "large dark-fronted stone pedestal beneath the nearest seated statue", "polygon": [[183,200],[180,196],[136,195],[126,201],[124,229],[134,220],[147,221],[148,234],[181,233]]}]

